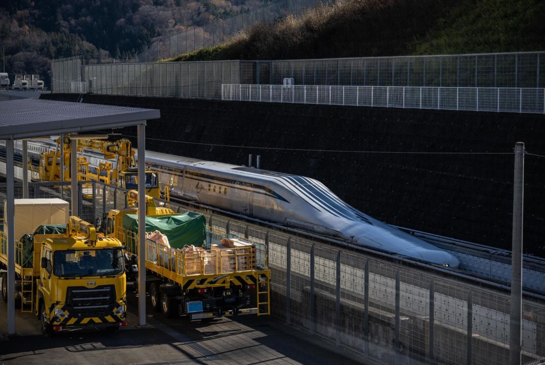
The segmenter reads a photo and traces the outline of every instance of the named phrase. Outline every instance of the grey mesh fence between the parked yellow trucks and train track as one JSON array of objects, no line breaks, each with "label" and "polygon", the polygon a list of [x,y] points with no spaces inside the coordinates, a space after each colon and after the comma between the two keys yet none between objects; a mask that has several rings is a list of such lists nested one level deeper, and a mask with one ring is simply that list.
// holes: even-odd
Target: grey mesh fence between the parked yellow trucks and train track
[{"label": "grey mesh fence between the parked yellow trucks and train track", "polygon": [[[69,187],[58,182],[30,183],[29,196],[69,200],[65,189]],[[93,182],[83,183],[81,191],[80,216],[88,222],[126,207],[124,189]],[[21,184],[16,184],[15,195],[21,198]],[[2,214],[4,200],[5,184],[0,184]],[[190,202],[156,204],[177,213],[201,212],[212,228],[265,244],[272,314],[310,334],[386,364],[508,362],[508,292],[319,238],[210,214]],[[545,359],[545,302],[524,298],[522,336],[523,363]]]}]

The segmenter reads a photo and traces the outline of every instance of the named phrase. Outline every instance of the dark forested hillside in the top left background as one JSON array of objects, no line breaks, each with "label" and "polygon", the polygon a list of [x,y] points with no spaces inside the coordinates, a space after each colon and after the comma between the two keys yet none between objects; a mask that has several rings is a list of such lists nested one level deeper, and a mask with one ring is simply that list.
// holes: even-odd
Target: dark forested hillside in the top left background
[{"label": "dark forested hillside in the top left background", "polygon": [[[97,53],[125,59],[161,34],[257,7],[264,0],[4,0],[6,71],[45,75],[52,58]],[[2,60],[0,59],[0,62]]]}]

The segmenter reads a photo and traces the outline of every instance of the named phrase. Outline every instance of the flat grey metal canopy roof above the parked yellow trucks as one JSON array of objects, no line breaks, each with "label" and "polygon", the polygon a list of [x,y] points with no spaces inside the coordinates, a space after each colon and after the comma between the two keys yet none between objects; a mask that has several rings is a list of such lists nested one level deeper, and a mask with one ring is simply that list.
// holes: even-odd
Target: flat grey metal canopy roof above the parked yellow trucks
[{"label": "flat grey metal canopy roof above the parked yellow trucks", "polygon": [[71,101],[0,101],[0,139],[23,139],[107,128],[145,125],[159,110]]}]

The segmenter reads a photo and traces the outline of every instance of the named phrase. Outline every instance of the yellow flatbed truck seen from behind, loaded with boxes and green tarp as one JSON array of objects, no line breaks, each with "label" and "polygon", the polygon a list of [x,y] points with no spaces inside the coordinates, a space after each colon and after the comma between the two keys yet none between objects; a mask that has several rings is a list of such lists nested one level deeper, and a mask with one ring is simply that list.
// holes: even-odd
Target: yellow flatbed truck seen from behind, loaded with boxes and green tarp
[{"label": "yellow flatbed truck seen from behind, loaded with boxes and green tarp", "polygon": [[[128,195],[132,199],[128,205],[134,205],[137,193]],[[146,288],[156,312],[192,320],[270,314],[264,244],[227,238],[225,232],[207,228],[202,214],[155,207],[149,196],[145,208]],[[128,248],[132,267],[139,254],[137,212],[136,207],[112,210],[106,218],[106,236]]]}]

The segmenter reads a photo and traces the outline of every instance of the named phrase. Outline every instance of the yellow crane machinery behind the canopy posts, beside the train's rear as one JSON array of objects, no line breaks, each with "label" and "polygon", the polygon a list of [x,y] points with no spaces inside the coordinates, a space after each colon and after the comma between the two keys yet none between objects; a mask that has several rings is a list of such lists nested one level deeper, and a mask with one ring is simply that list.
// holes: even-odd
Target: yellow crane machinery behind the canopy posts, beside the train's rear
[{"label": "yellow crane machinery behind the canopy posts, beside the train's rear", "polygon": [[[60,181],[60,137],[56,142],[57,148],[40,153],[38,181]],[[63,180],[70,181],[70,137],[65,136],[63,143]],[[128,139],[78,139],[77,150],[86,154],[77,158],[79,181],[100,181],[124,189],[137,187],[135,151]],[[157,171],[146,170],[146,192],[154,198],[170,199],[169,187],[161,189]]]}]

